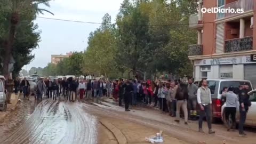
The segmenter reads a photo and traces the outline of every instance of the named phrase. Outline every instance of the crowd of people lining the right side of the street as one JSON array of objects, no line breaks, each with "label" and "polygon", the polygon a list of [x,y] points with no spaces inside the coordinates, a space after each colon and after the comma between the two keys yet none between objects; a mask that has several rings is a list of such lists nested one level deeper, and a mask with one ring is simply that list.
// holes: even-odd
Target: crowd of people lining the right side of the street
[{"label": "crowd of people lining the right side of the street", "polygon": [[[145,81],[140,82],[136,79],[129,79],[126,82],[121,78],[114,82],[113,98],[119,98],[119,106],[122,106],[124,99],[125,110],[129,110],[129,105],[136,106],[137,101],[146,103],[151,107],[158,107],[162,113],[169,113],[175,117],[175,122],[180,122],[181,112],[185,118],[185,124],[188,124],[188,119],[198,119],[198,131],[203,131],[203,118],[206,117],[208,133],[213,134],[212,129],[212,98],[211,90],[208,87],[207,80],[202,81],[197,86],[193,83],[193,79],[188,79],[188,84],[181,81]],[[223,91],[223,96],[227,99],[226,119],[231,115],[233,126],[228,128],[234,129],[236,123],[236,103],[239,101],[240,106],[240,121],[239,121],[239,136],[246,137],[243,127],[246,119],[247,111],[250,107],[248,85],[241,85],[239,91],[234,93],[234,87],[230,86],[226,91]],[[141,98],[141,99],[140,99]],[[199,109],[197,110],[197,106]],[[182,111],[181,111],[182,110]],[[197,113],[199,112],[199,113]]]}]

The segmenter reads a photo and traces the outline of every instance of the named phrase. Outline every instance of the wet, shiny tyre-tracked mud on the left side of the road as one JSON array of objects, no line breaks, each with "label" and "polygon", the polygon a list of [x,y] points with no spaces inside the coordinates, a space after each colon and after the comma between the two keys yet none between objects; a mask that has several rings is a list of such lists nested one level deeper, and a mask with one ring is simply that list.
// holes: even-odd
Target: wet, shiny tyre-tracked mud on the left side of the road
[{"label": "wet, shiny tyre-tracked mud on the left side of the road", "polygon": [[18,129],[0,137],[3,144],[97,143],[97,119],[75,102],[43,100]]}]

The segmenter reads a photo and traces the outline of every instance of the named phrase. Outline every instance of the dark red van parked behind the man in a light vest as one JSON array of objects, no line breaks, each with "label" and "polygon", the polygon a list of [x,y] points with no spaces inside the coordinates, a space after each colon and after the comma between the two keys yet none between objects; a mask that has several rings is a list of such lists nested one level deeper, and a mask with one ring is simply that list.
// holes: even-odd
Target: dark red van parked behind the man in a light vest
[{"label": "dark red van parked behind the man in a light vest", "polygon": [[[196,85],[199,84],[199,80],[195,81]],[[247,84],[249,85],[249,90],[251,91],[252,83],[250,81],[242,80],[242,79],[207,79],[207,83],[209,89],[211,90],[211,97],[212,97],[212,122],[216,122],[221,120],[221,106],[224,105],[225,101],[222,102],[221,94],[225,87],[239,87],[239,85]],[[197,111],[200,111],[199,106],[197,107]],[[197,113],[199,114],[199,113]]]}]

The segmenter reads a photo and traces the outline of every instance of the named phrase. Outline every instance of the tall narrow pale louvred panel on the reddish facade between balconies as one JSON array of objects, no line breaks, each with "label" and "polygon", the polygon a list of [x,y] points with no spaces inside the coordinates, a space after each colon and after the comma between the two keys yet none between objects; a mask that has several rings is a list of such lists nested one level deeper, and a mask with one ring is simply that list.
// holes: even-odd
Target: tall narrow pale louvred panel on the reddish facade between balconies
[{"label": "tall narrow pale louvred panel on the reddish facade between balconies", "polygon": [[216,26],[216,53],[223,53],[224,50],[224,23],[219,23]]}]

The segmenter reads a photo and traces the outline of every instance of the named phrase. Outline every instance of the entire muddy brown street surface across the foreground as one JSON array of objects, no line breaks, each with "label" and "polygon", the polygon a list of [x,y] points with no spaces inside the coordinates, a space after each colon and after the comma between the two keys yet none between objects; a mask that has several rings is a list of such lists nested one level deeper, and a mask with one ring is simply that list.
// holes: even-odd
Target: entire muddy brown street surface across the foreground
[{"label": "entire muddy brown street surface across the foreground", "polygon": [[[184,125],[170,116],[146,108],[124,108],[102,102],[66,100],[22,100],[16,110],[0,123],[0,141],[19,143],[148,143],[145,137],[163,130],[164,143],[254,143],[255,130],[249,138],[239,138],[238,132],[227,132],[223,125],[213,125],[214,135],[197,132],[197,123]],[[204,125],[207,132],[207,127]]]}]

